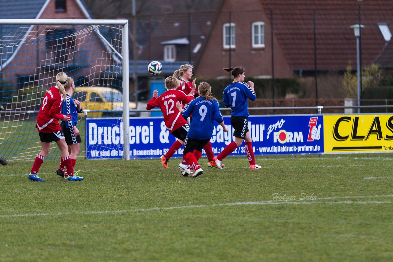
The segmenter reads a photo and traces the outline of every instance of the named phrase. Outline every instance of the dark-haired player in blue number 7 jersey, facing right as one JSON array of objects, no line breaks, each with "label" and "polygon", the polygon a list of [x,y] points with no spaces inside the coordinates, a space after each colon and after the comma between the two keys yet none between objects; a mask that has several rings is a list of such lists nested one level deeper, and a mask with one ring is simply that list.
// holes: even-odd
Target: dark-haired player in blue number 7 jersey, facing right
[{"label": "dark-haired player in blue number 7 jersey, facing right", "polygon": [[262,167],[255,163],[254,152],[252,149],[252,139],[248,130],[248,99],[255,101],[257,96],[254,92],[254,83],[251,81],[243,82],[244,68],[237,66],[235,68],[223,68],[233,75],[233,82],[227,86],[222,94],[224,106],[231,107],[231,125],[235,129],[233,136],[235,141],[227,145],[222,152],[214,158],[217,167],[222,169],[222,159],[226,158],[239,147],[243,141],[246,141],[246,155],[250,162],[250,169],[261,169]]}]

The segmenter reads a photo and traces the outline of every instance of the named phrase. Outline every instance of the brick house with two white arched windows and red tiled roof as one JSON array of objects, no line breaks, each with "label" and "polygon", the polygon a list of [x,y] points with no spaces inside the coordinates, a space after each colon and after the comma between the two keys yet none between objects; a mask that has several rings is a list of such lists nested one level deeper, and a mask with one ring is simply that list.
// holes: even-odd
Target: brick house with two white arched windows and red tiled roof
[{"label": "brick house with two white arched windows and red tiled roof", "polygon": [[223,67],[241,65],[248,76],[271,77],[273,17],[275,77],[313,75],[314,10],[318,72],[345,71],[348,64],[356,69],[356,37],[350,26],[359,23],[359,6],[365,26],[362,65],[383,60],[384,66],[391,66],[393,56],[380,54],[383,50],[389,54],[392,0],[244,0],[240,5],[236,0],[220,0],[196,55],[195,71],[220,77],[225,75]]}]

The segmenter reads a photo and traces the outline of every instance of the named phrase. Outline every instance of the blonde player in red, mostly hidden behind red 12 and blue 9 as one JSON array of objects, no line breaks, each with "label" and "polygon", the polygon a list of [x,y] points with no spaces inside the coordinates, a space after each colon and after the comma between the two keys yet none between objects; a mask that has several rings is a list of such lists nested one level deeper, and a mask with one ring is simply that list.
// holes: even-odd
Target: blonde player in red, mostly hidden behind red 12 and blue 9
[{"label": "blonde player in red, mostly hidden behind red 12 and blue 9", "polygon": [[[196,89],[195,85],[195,78],[193,82],[191,83],[191,78],[193,76],[193,68],[194,66],[191,64],[184,64],[180,66],[180,68],[173,73],[173,77],[176,77],[177,79],[180,80],[180,85],[178,86],[178,90],[182,90],[184,93],[190,93],[192,89]],[[198,95],[198,92],[196,90],[193,92],[193,96]],[[183,104],[185,106],[185,104]],[[192,117],[192,115],[191,115]],[[191,123],[191,117],[187,118],[187,123]],[[173,154],[179,150],[180,147],[182,147],[182,143],[180,141],[176,140],[174,141],[173,145],[169,148],[167,154],[164,155],[165,158],[170,158],[173,156]],[[209,167],[217,167],[215,161],[213,160],[214,154],[213,150],[211,149],[211,143],[210,141],[204,146],[203,148],[206,152],[206,155],[208,156],[208,166]],[[182,163],[180,163],[179,168],[180,170],[185,171],[188,167],[187,161],[183,159]]]}]

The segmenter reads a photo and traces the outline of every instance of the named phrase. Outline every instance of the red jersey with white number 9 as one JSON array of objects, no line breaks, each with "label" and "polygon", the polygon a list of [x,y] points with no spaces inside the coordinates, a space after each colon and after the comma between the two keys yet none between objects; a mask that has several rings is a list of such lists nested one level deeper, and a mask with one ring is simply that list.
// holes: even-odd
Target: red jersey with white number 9
[{"label": "red jersey with white number 9", "polygon": [[59,119],[64,117],[60,113],[63,101],[64,96],[57,86],[53,86],[46,91],[38,112],[37,125],[35,125],[39,132],[53,133],[61,130]]}]

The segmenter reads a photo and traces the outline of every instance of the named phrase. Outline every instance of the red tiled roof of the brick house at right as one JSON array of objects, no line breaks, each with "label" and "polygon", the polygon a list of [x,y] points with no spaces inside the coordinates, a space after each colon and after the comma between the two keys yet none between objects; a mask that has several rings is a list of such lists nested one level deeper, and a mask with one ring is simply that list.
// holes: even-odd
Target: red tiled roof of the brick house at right
[{"label": "red tiled roof of the brick house at right", "polygon": [[[386,42],[377,23],[393,29],[393,0],[260,0],[274,34],[292,69],[314,68],[314,18],[318,70],[344,70],[351,60],[356,68],[356,37],[350,28],[359,23],[361,7],[362,64],[370,65]],[[390,52],[393,58],[393,52]],[[390,62],[393,64],[393,62]]]}]

